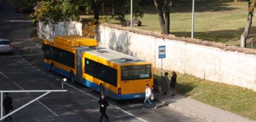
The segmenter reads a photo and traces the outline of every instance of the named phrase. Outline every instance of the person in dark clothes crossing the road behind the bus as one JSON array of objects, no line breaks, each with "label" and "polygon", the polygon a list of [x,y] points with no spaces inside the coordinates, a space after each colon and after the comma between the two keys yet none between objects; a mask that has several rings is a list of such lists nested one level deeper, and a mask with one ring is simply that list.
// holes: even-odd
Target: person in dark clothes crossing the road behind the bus
[{"label": "person in dark clothes crossing the road behind the bus", "polygon": [[102,94],[98,103],[100,104],[100,113],[101,113],[101,117],[100,117],[100,121],[102,120],[103,116],[106,118],[106,121],[109,120],[108,115],[106,115],[106,106],[109,105],[108,99],[105,98],[105,94]]}]

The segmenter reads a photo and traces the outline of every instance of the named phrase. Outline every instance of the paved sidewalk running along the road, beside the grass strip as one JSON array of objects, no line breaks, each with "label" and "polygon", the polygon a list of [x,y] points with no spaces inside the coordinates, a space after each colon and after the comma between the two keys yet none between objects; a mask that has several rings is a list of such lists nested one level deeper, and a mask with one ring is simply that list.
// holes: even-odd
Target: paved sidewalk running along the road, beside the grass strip
[{"label": "paved sidewalk running along the road, beside the grass strip", "polygon": [[[44,51],[41,50],[41,45],[30,39],[30,33],[33,29],[35,28],[26,27],[16,30],[12,34],[12,44],[14,45],[14,48],[15,46],[23,47],[31,52],[35,52],[41,56],[44,56]],[[172,92],[167,93],[167,95],[162,95],[161,87],[159,87],[159,93],[154,94],[156,101],[162,102],[169,107],[182,110],[183,112],[204,121],[252,121],[225,110],[221,110],[219,108],[195,101],[194,99],[185,97],[178,93],[176,93],[176,95],[173,97],[170,95],[172,95]]]}]

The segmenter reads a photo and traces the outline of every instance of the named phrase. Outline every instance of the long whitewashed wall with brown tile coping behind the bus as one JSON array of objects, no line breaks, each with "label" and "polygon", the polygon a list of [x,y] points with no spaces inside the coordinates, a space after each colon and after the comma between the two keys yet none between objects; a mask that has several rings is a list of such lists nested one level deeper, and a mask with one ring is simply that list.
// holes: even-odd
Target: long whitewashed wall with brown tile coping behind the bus
[{"label": "long whitewashed wall with brown tile coping behind the bus", "polygon": [[[38,24],[39,37],[82,35],[81,23],[67,20],[54,25],[55,31],[52,26]],[[102,47],[150,61],[156,68],[161,68],[158,46],[166,46],[163,69],[256,91],[256,50],[107,23],[98,26],[96,39]]]}]

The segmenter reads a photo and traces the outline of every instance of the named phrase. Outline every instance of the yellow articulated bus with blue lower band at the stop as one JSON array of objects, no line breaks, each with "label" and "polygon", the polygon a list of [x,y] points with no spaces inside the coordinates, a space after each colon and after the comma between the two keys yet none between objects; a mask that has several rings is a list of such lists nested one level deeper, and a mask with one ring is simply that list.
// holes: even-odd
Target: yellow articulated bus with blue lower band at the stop
[{"label": "yellow articulated bus with blue lower band at the stop", "polygon": [[98,47],[95,39],[56,36],[42,50],[46,69],[113,99],[145,98],[146,84],[154,92],[151,62]]}]

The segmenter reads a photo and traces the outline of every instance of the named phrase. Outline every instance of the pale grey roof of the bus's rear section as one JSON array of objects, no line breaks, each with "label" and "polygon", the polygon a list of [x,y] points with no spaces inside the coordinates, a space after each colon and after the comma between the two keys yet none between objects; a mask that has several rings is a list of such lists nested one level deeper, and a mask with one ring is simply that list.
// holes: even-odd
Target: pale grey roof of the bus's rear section
[{"label": "pale grey roof of the bus's rear section", "polygon": [[[148,61],[142,60],[142,59],[138,59],[136,57],[132,57],[129,56],[127,54],[118,52],[118,51],[114,51],[111,49],[104,49],[101,47],[97,47],[96,49],[91,49],[89,48],[88,51],[84,51],[87,52],[89,54],[92,54],[93,56],[97,56],[99,58],[111,61],[113,63],[116,64],[128,64],[128,63],[146,63]],[[125,60],[125,61],[124,61]],[[150,62],[148,62],[150,63]]]}]

